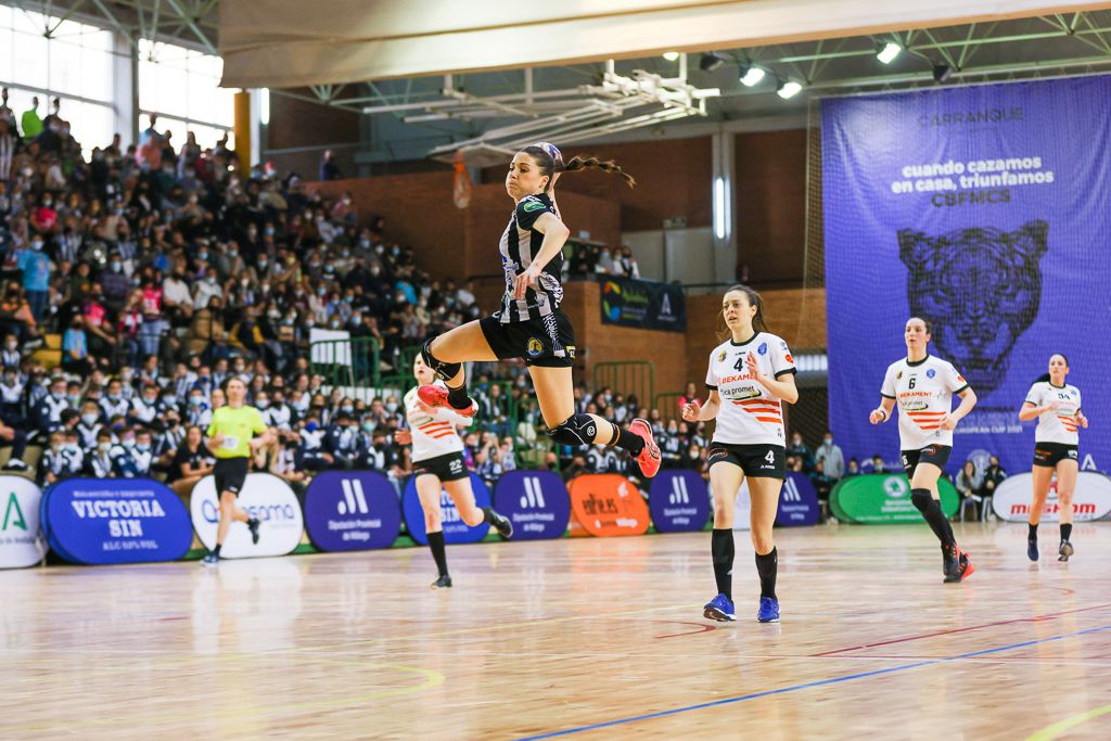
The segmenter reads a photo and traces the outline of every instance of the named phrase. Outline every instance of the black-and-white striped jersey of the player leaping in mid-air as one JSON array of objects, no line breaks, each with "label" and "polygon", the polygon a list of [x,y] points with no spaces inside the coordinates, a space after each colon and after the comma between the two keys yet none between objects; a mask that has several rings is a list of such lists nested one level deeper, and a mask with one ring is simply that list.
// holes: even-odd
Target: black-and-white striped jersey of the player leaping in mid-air
[{"label": "black-and-white striped jersey of the player leaping in mid-air", "polygon": [[501,297],[501,309],[494,317],[503,324],[550,317],[563,301],[563,286],[560,274],[563,270],[563,254],[558,252],[543,271],[536,288],[527,289],[524,298],[513,298],[513,280],[532,264],[533,256],[540,252],[544,236],[532,224],[544,213],[559,217],[556,206],[547,193],[526,196],[513,209],[513,216],[501,236],[501,264],[506,271],[506,293]]}]

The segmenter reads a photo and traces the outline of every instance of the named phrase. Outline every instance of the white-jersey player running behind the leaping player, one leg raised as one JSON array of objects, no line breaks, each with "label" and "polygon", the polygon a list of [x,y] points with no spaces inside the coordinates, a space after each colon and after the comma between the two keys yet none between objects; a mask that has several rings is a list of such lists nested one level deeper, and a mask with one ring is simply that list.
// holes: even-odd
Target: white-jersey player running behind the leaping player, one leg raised
[{"label": "white-jersey player running behind the leaping player, one leg raised", "polygon": [[[421,385],[441,384],[419,356],[413,361],[413,375]],[[394,440],[402,445],[412,443],[413,477],[417,478],[417,494],[420,497],[421,509],[424,510],[428,547],[436,560],[436,568],[440,571],[439,578],[432,582],[432,589],[444,589],[451,587],[451,575],[448,573],[448,555],[443,545],[441,489],[451,497],[459,517],[468,527],[473,528],[486,521],[497,528],[502,538],[510,538],[513,534],[513,523],[509,518],[494,512],[493,508],[479,508],[474,503],[470,473],[463,459],[463,441],[456,432],[457,424],[470,424],[471,418],[450,409],[432,409],[418,398],[417,388],[410,389],[404,398],[409,429],[398,430]]]}]

